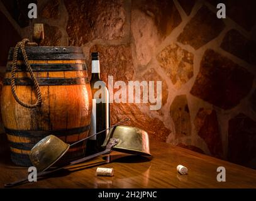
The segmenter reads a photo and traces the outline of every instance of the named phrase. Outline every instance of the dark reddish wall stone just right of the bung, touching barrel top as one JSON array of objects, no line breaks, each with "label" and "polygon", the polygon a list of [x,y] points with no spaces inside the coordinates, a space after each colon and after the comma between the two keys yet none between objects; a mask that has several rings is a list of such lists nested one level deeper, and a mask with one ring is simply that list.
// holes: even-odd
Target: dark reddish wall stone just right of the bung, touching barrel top
[{"label": "dark reddish wall stone just right of the bung, touching barrel top", "polygon": [[41,46],[60,46],[60,41],[62,38],[61,31],[57,26],[49,26],[44,24],[45,39],[40,43]]}]

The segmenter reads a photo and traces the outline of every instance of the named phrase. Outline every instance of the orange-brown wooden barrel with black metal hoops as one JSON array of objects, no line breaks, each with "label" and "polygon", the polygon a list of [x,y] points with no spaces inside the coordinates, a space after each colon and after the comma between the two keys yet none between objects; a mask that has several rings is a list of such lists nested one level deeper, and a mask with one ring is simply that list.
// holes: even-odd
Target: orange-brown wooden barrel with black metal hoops
[{"label": "orange-brown wooden barrel with black metal hoops", "polygon": [[[53,134],[66,143],[86,138],[91,121],[91,87],[84,54],[79,47],[26,47],[26,53],[40,85],[42,106],[29,109],[13,97],[10,78],[13,48],[9,51],[1,95],[1,114],[16,165],[31,166],[30,149]],[[35,104],[36,94],[21,52],[15,79],[16,94]],[[84,156],[86,143],[70,147],[62,161]]]}]

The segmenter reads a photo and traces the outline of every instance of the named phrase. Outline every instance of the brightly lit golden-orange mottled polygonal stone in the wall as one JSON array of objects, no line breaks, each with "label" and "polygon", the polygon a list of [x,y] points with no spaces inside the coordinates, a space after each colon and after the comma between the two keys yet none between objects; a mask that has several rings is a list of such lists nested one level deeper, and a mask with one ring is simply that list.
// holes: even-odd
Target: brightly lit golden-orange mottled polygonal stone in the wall
[{"label": "brightly lit golden-orange mottled polygonal stone in the wall", "polygon": [[157,60],[177,89],[193,76],[194,55],[175,43],[165,47]]}]

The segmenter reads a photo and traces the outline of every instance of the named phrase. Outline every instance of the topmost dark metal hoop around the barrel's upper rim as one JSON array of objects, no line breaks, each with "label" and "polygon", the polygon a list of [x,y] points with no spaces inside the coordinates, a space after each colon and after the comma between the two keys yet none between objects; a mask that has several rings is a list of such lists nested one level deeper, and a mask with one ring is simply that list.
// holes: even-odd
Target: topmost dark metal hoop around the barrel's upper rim
[{"label": "topmost dark metal hoop around the barrel's upper rim", "polygon": [[[13,50],[11,47],[8,60],[13,60]],[[84,53],[79,46],[26,46],[26,54],[29,60],[84,60]],[[23,60],[21,50],[18,52],[18,60]]]}]

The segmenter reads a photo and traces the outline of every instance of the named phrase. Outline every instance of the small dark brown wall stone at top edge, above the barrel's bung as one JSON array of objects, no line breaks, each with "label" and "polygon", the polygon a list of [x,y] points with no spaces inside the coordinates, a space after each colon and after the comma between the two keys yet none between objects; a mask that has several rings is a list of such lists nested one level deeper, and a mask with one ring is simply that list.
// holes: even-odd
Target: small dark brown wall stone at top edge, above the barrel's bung
[{"label": "small dark brown wall stone at top edge, above the barrel's bung", "polygon": [[58,16],[60,15],[60,11],[58,10],[59,5],[60,0],[49,0],[40,12],[40,16],[47,19],[58,19]]}]

